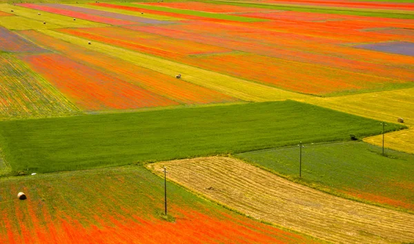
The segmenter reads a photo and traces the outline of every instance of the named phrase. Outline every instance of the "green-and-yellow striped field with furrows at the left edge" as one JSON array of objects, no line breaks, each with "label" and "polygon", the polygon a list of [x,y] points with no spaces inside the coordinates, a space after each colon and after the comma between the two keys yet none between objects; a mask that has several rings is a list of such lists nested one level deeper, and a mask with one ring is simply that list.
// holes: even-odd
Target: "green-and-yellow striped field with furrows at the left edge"
[{"label": "green-and-yellow striped field with furrows at the left edge", "polygon": [[10,54],[0,54],[0,116],[59,116],[79,110],[47,81]]}]

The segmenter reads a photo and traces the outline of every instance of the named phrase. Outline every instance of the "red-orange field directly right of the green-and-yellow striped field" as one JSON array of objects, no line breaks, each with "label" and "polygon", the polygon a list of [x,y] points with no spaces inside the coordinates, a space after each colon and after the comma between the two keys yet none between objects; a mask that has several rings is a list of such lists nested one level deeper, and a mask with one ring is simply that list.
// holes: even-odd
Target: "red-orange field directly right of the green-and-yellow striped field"
[{"label": "red-orange field directly right of the green-and-yellow striped field", "polygon": [[179,104],[59,54],[33,55],[23,60],[85,110]]}]

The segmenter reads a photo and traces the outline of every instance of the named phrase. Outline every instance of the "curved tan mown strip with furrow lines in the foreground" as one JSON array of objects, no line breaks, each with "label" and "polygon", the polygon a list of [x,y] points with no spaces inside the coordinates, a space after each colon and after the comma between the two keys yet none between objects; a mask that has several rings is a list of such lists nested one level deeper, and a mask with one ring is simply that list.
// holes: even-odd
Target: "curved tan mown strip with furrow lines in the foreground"
[{"label": "curved tan mown strip with furrow lines in the foreground", "polygon": [[[335,243],[414,241],[414,215],[332,196],[239,159],[206,157],[159,162],[171,181],[253,218]],[[351,180],[351,179],[350,179]]]}]

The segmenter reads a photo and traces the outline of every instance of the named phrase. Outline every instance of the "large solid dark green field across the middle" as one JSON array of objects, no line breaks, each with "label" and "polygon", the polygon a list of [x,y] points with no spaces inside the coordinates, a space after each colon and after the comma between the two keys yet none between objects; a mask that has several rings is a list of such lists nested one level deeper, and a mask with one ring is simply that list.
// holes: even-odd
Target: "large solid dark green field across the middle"
[{"label": "large solid dark green field across the middle", "polygon": [[[14,171],[58,172],[379,134],[377,121],[295,101],[0,123]],[[388,125],[398,130],[402,125]]]}]

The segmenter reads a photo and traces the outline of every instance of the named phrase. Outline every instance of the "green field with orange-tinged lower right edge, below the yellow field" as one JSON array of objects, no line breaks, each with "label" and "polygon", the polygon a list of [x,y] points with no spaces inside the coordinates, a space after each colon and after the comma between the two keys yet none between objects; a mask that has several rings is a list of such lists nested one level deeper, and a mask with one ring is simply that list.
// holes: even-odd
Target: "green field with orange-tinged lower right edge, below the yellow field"
[{"label": "green field with orange-tinged lower right edge, below the yellow field", "polygon": [[414,211],[413,154],[364,142],[322,143],[237,154],[237,157],[317,189]]}]

